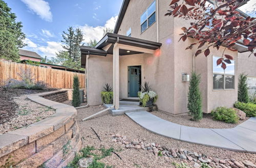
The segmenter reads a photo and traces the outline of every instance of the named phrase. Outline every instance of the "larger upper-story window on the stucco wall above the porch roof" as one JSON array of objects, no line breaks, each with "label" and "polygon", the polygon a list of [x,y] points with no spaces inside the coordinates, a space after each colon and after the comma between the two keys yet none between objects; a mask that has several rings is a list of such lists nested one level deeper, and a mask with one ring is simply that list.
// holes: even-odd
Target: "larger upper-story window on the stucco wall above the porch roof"
[{"label": "larger upper-story window on the stucco wall above the porch roof", "polygon": [[156,1],[154,1],[146,11],[140,16],[140,30],[144,32],[156,21]]}]

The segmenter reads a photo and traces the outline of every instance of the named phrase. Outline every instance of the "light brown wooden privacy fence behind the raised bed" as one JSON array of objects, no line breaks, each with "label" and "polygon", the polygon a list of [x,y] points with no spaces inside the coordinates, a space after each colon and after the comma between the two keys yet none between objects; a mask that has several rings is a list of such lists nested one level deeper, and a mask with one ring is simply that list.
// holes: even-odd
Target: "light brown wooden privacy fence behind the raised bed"
[{"label": "light brown wooden privacy fence behind the raised bed", "polygon": [[52,68],[44,68],[27,64],[0,60],[0,85],[8,79],[20,80],[18,73],[30,69],[35,81],[44,81],[51,88],[73,89],[73,77],[79,78],[80,88],[85,88],[85,74]]}]

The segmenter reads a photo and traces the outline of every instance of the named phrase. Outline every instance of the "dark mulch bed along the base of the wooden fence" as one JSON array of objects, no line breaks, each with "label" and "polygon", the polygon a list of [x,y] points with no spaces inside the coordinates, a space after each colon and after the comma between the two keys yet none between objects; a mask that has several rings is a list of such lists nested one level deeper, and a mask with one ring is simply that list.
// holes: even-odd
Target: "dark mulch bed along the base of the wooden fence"
[{"label": "dark mulch bed along the base of the wooden fence", "polygon": [[28,90],[28,89],[8,89],[4,90],[0,87],[0,124],[9,122],[16,116],[15,111],[18,105],[13,101],[15,97],[27,94],[36,94],[41,92],[49,92],[56,89],[49,90]]}]

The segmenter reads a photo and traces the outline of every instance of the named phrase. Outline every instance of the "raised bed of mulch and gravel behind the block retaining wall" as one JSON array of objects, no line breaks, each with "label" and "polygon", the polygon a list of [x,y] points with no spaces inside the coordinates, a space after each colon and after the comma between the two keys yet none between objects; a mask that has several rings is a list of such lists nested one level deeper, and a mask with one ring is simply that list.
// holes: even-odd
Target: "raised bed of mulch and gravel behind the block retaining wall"
[{"label": "raised bed of mulch and gravel behind the block retaining wall", "polygon": [[0,89],[0,134],[50,117],[55,110],[27,100],[27,95],[53,90]]}]

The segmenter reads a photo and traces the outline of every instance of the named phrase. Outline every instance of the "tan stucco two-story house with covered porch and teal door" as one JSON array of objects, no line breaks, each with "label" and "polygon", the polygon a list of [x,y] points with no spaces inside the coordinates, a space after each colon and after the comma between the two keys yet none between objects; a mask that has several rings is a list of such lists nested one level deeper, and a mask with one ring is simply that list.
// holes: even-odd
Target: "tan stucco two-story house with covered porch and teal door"
[{"label": "tan stucco two-story house with covered porch and teal door", "polygon": [[102,104],[100,92],[109,83],[114,88],[114,104],[118,109],[120,99],[138,99],[138,87],[147,81],[158,94],[159,110],[186,114],[189,81],[183,81],[182,77],[195,70],[201,74],[203,112],[210,113],[217,106],[232,107],[237,101],[240,72],[256,77],[256,58],[245,57],[247,48],[241,43],[234,46],[241,53],[225,50],[234,59],[225,71],[216,65],[224,47],[210,48],[208,57],[203,54],[193,57],[197,47],[185,48],[194,39],[178,42],[181,27],[190,22],[164,16],[169,3],[124,0],[114,34],[106,34],[95,47],[81,46],[81,65],[88,73],[89,105]]}]

